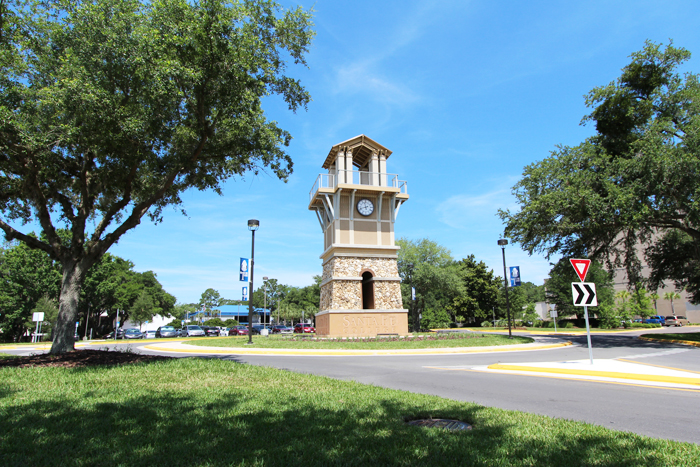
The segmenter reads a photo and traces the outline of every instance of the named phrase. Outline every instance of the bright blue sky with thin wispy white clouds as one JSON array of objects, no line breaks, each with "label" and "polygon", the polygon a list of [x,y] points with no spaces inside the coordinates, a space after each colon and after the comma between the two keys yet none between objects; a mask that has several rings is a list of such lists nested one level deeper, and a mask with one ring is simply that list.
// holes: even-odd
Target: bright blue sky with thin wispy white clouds
[{"label": "bright blue sky with thin wispy white clouds", "polygon": [[[470,254],[503,274],[498,209],[517,210],[511,187],[523,168],[557,145],[593,134],[581,126],[584,96],[620,75],[645,40],[684,47],[700,72],[695,1],[365,1],[281,2],[314,9],[308,68],[290,66],[313,101],[290,112],[266,98],[270,120],[294,139],[294,173],[225,184],[223,196],[188,191],[187,216],[144,218],[110,252],[152,270],[178,302],[206,289],[241,298],[238,268],[255,233],[255,287],[262,277],[306,286],[322,272],[323,237],[309,191],[330,148],[365,134],[393,151],[387,171],[408,182],[396,237],[429,238],[455,259]],[[506,248],[523,281],[542,284],[542,256]]]}]

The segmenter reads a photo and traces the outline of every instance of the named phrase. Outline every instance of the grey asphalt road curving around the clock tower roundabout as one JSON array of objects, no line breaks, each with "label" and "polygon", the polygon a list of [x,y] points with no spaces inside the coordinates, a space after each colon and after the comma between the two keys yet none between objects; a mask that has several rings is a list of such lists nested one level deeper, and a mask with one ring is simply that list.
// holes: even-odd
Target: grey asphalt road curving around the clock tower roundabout
[{"label": "grey asphalt road curving around the clock tower roundabout", "polygon": [[[659,332],[697,332],[669,329]],[[648,332],[646,330],[645,332]],[[641,334],[640,332],[639,334]],[[553,338],[540,338],[544,341]],[[700,444],[700,389],[581,381],[537,374],[495,374],[473,367],[493,363],[588,359],[586,337],[551,350],[447,355],[219,357],[377,386],[476,402],[489,407],[579,420],[615,430]],[[629,334],[594,334],[594,359],[625,359],[700,373],[700,348],[647,342]],[[142,344],[134,343],[138,349]],[[146,351],[147,353],[155,353]],[[189,356],[178,354],[176,356]]]}]

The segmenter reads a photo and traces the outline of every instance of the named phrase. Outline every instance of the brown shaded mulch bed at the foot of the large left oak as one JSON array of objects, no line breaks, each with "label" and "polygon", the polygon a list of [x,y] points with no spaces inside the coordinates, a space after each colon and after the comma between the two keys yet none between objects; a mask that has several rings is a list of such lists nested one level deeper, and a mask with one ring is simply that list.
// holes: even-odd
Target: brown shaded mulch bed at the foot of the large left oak
[{"label": "brown shaded mulch bed at the foot of the large left oak", "polygon": [[42,367],[55,366],[76,368],[94,365],[124,365],[129,363],[150,363],[170,360],[174,357],[143,355],[132,352],[110,352],[107,350],[74,350],[61,355],[30,355],[28,357],[0,358],[2,367]]}]

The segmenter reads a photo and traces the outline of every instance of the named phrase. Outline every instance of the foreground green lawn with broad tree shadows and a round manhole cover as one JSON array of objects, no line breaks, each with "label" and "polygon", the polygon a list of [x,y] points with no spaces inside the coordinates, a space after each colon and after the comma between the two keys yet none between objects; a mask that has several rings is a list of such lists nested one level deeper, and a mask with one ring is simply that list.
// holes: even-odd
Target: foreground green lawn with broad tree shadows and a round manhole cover
[{"label": "foreground green lawn with broad tree shadows and a round manhole cover", "polygon": [[[473,430],[418,428],[450,418]],[[700,446],[218,359],[0,369],[2,466],[697,466]]]}]

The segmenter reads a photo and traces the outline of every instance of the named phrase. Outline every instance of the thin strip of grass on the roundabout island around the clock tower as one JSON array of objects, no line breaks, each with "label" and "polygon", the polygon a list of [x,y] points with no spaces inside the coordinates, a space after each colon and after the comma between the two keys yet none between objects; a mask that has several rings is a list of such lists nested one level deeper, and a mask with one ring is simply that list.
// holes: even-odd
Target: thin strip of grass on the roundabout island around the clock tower
[{"label": "thin strip of grass on the roundabout island around the clock tower", "polygon": [[371,339],[317,339],[311,336],[253,336],[253,344],[248,345],[248,336],[221,337],[217,339],[196,339],[188,344],[214,347],[245,347],[265,349],[347,349],[347,350],[388,350],[388,349],[437,349],[449,347],[481,347],[489,345],[528,344],[529,337],[454,333],[436,338],[433,334],[422,339],[371,338]]}]

